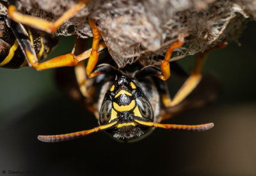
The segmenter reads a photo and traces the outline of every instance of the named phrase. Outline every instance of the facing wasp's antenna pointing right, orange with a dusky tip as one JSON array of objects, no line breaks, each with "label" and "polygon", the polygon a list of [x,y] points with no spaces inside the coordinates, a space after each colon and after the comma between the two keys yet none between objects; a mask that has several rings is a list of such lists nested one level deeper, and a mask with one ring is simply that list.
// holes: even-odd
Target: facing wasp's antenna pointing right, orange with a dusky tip
[{"label": "facing wasp's antenna pointing right, orange with a dusky tip", "polygon": [[175,125],[175,124],[158,124],[154,122],[143,122],[141,120],[134,120],[140,125],[145,125],[148,127],[158,127],[163,129],[175,129],[180,131],[207,131],[211,129],[214,124],[201,124],[201,125]]}]

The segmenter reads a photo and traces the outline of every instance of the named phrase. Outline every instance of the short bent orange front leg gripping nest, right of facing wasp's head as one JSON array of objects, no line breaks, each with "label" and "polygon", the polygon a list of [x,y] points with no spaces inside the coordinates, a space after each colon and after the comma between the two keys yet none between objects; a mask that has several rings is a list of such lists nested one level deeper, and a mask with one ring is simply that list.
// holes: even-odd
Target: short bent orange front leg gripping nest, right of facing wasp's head
[{"label": "short bent orange front leg gripping nest, right of facing wasp's head", "polygon": [[161,74],[155,74],[155,76],[159,77],[160,79],[162,79],[163,81],[166,81],[170,75],[170,58],[172,56],[172,52],[174,49],[181,47],[184,44],[184,38],[178,38],[178,42],[170,45],[170,47],[168,47],[168,49],[166,50],[166,54],[164,56],[164,60],[160,60],[161,61],[161,70],[162,73]]}]

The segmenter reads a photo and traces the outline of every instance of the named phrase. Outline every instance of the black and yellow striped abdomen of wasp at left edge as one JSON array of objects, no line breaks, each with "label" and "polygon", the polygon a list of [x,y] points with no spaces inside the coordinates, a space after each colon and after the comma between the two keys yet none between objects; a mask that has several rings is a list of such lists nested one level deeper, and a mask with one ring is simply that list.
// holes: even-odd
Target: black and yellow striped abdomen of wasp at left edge
[{"label": "black and yellow striped abdomen of wasp at left edge", "polygon": [[[30,28],[26,28],[26,31],[39,61],[43,60],[58,43],[58,40],[49,34]],[[0,67],[21,68],[27,65],[26,57],[12,29],[0,18]]]}]

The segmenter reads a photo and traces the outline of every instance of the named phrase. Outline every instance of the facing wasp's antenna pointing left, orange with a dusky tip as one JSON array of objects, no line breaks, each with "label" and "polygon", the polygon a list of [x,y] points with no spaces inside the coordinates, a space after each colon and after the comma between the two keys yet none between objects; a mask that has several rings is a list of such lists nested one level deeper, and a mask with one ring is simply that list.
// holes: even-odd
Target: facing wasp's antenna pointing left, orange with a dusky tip
[{"label": "facing wasp's antenna pointing left, orange with a dusky tip", "polygon": [[104,129],[109,129],[110,127],[113,127],[117,123],[113,122],[111,124],[107,125],[100,125],[99,127],[95,127],[93,129],[88,129],[84,131],[78,131],[78,132],[72,132],[68,134],[58,134],[58,135],[48,135],[48,136],[38,136],[38,140],[43,141],[43,142],[59,142],[59,141],[67,141],[67,140],[72,140],[75,138],[81,138],[83,136],[86,136],[87,134],[93,133],[93,132],[98,132],[102,131]]}]

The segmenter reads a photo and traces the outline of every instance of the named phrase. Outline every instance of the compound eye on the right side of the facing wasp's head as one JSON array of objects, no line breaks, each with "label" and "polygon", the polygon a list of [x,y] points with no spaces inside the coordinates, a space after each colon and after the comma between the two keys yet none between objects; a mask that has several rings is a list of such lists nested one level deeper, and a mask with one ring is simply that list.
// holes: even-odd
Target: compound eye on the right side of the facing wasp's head
[{"label": "compound eye on the right side of the facing wasp's head", "polygon": [[147,118],[147,120],[153,121],[154,120],[154,114],[153,109],[148,102],[147,99],[144,97],[138,97],[137,99],[138,108],[140,110],[141,116],[143,118]]}]

